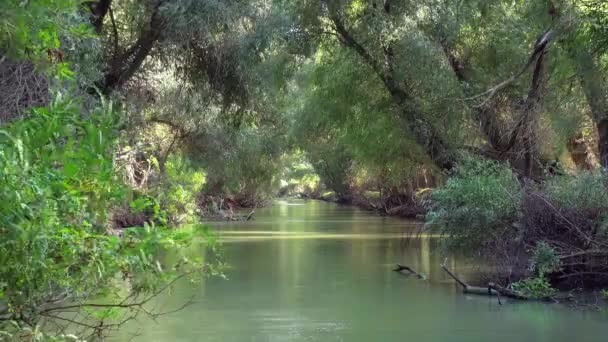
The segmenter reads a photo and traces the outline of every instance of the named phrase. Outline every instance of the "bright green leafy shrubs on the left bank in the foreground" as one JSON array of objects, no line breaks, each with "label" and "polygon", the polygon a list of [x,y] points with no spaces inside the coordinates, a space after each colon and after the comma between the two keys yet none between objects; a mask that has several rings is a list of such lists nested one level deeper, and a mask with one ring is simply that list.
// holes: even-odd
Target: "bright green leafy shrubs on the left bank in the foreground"
[{"label": "bright green leafy shrubs on the left bank in the foreground", "polygon": [[[155,226],[106,234],[109,209],[125,193],[112,159],[115,126],[111,104],[86,113],[57,97],[0,131],[0,310],[9,320],[36,323],[64,301],[120,301],[125,289],[134,300],[202,270],[201,260],[185,256],[158,261],[192,234]],[[137,210],[148,205],[133,202]]]}]

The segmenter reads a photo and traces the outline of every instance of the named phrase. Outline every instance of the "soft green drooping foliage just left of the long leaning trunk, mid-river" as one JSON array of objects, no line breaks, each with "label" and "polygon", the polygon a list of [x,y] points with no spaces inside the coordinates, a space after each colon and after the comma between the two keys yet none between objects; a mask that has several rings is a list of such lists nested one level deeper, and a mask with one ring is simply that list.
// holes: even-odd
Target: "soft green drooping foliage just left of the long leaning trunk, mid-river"
[{"label": "soft green drooping foliage just left of the long leaning trunk, mid-river", "polygon": [[288,95],[291,136],[322,183],[337,193],[351,192],[361,175],[369,184],[401,186],[415,167],[428,162],[404,134],[389,94],[371,72],[356,56],[326,42],[302,66]]}]

